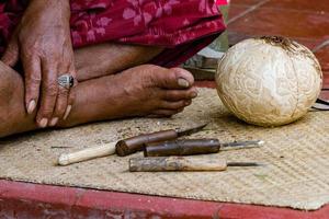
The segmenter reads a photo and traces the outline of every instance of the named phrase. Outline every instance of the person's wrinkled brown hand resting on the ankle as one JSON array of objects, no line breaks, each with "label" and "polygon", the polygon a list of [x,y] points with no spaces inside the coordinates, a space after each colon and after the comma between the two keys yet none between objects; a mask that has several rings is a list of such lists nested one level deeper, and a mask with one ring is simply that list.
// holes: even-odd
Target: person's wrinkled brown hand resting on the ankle
[{"label": "person's wrinkled brown hand resting on the ankle", "polygon": [[69,19],[69,0],[31,0],[2,57],[11,67],[21,59],[26,111],[39,106],[36,123],[43,128],[66,119],[73,102],[57,82],[66,73],[76,78]]}]

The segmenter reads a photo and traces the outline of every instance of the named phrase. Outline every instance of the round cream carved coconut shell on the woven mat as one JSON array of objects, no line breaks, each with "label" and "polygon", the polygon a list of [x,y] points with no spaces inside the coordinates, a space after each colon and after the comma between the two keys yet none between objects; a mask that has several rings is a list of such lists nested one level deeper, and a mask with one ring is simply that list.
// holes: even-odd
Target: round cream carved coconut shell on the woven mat
[{"label": "round cream carved coconut shell on the woven mat", "polygon": [[279,126],[304,116],[322,85],[314,54],[287,38],[250,38],[232,46],[216,72],[217,91],[238,118]]}]

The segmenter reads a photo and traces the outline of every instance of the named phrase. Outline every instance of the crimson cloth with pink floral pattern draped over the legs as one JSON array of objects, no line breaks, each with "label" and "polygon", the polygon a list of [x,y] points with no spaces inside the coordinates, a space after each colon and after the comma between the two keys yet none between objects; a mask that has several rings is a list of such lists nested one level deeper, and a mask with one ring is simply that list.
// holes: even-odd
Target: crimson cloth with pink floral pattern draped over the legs
[{"label": "crimson cloth with pink floral pattern draped over the legs", "polygon": [[[0,53],[29,0],[0,3]],[[114,42],[162,46],[151,62],[177,66],[225,30],[214,0],[70,0],[75,48]]]}]

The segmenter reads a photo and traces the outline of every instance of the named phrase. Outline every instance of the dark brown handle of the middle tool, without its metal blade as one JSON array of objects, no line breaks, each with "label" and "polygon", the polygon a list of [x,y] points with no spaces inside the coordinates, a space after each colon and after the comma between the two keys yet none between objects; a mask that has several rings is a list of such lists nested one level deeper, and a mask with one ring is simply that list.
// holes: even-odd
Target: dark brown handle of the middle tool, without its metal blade
[{"label": "dark brown handle of the middle tool, without its metal blade", "polygon": [[216,138],[172,140],[147,143],[144,149],[144,155],[168,157],[217,153],[219,148],[220,143]]}]

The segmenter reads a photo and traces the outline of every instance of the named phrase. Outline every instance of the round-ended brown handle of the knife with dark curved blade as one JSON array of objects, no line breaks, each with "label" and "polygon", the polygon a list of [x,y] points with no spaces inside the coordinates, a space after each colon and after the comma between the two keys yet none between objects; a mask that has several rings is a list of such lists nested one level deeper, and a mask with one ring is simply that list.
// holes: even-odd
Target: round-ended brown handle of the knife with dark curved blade
[{"label": "round-ended brown handle of the knife with dark curved blade", "polygon": [[175,139],[177,137],[178,134],[173,129],[139,135],[118,141],[116,143],[116,153],[120,157],[128,155],[143,150],[145,143],[171,140]]}]

